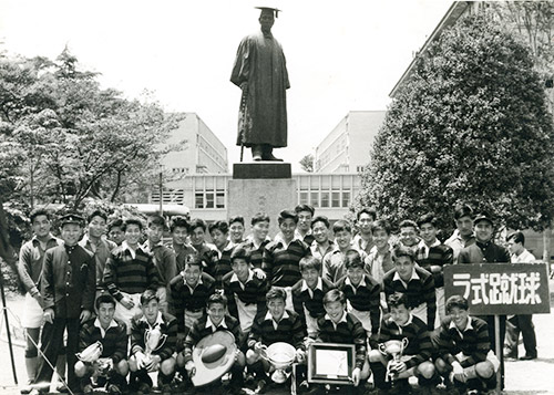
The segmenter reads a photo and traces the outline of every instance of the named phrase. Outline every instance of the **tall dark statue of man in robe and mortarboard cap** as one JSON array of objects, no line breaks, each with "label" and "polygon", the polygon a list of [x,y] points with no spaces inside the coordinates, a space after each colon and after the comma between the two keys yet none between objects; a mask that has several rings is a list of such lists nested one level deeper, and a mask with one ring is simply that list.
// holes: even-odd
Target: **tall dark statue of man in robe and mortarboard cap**
[{"label": "tall dark statue of man in robe and mortarboard cap", "polygon": [[274,148],[287,146],[288,82],[285,54],[271,34],[279,10],[259,8],[260,31],[238,46],[230,81],[240,87],[237,145],[250,147],[254,160],[281,160]]}]

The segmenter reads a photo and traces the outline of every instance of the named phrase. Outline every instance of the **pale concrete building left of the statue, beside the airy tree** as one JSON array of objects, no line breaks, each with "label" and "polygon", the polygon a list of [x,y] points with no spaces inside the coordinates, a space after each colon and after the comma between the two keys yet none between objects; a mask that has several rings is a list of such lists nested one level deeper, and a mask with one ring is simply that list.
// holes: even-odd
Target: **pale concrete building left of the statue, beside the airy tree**
[{"label": "pale concrete building left of the statue, beside the airy tree", "polygon": [[162,159],[165,170],[175,177],[228,173],[227,148],[219,138],[197,114],[183,115],[184,118],[166,142],[174,149]]}]

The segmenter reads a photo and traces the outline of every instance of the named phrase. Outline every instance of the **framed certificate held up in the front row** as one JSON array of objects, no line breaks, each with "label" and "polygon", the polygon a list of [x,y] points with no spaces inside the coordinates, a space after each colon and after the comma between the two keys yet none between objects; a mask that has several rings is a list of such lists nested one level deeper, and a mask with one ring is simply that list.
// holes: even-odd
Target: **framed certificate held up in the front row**
[{"label": "framed certificate held up in the front row", "polygon": [[308,383],[351,385],[353,344],[312,343],[308,349]]}]

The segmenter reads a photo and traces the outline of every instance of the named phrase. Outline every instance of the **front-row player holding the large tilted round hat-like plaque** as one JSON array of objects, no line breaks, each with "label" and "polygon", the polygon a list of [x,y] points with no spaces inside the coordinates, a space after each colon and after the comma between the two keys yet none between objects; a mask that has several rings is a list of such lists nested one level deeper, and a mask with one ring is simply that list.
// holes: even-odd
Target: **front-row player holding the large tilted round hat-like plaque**
[{"label": "front-row player holding the large tilted round hat-like plaque", "polygon": [[[243,386],[243,371],[246,365],[244,353],[240,351],[240,342],[243,334],[240,326],[236,319],[225,314],[227,310],[227,298],[220,293],[209,295],[206,304],[207,316],[196,321],[188,332],[185,340],[185,350],[183,351],[183,358],[185,362],[185,370],[192,378],[196,373],[196,366],[193,362],[193,349],[198,342],[207,335],[216,331],[229,331],[235,336],[237,345],[237,353],[235,355],[235,364],[233,365],[230,387],[232,391],[239,393]],[[178,356],[181,358],[181,355]]]}]

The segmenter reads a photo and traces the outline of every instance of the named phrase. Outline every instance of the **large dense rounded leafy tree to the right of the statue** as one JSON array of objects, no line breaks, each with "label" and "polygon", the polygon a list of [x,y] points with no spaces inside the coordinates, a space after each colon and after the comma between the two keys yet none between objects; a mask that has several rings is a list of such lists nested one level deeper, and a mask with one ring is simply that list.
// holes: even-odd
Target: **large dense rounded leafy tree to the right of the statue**
[{"label": "large dense rounded leafy tree to the right of the statue", "polygon": [[393,224],[465,201],[512,228],[554,216],[554,127],[526,45],[483,17],[459,21],[420,56],[390,105],[359,205]]}]

